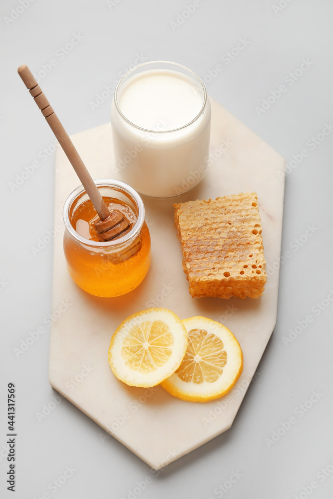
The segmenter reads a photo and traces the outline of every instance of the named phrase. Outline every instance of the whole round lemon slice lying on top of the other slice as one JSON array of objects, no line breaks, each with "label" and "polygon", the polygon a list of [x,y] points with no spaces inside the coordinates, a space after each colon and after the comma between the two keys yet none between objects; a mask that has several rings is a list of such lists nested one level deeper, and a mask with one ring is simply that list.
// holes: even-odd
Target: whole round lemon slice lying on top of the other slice
[{"label": "whole round lemon slice lying on top of the other slice", "polygon": [[130,315],[115,330],[109,364],[127,385],[155,386],[178,369],[186,348],[180,318],[166,308],[149,308]]}]

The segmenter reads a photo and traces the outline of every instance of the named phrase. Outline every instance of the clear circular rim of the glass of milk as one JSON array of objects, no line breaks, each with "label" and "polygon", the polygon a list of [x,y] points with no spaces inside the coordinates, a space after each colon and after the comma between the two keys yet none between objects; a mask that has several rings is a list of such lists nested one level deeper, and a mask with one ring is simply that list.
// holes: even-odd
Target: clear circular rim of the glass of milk
[{"label": "clear circular rim of the glass of milk", "polygon": [[[202,107],[199,111],[199,113],[191,120],[189,121],[188,123],[186,123],[185,125],[182,125],[180,127],[177,127],[177,128],[173,128],[172,130],[150,130],[149,128],[142,128],[141,126],[139,125],[136,125],[135,123],[133,123],[132,121],[130,121],[128,118],[126,118],[126,116],[123,114],[123,112],[121,111],[120,109],[120,106],[119,106],[119,103],[118,103],[118,90],[119,90],[119,87],[122,83],[122,81],[124,80],[124,78],[126,78],[127,76],[129,76],[131,73],[133,73],[136,69],[138,69],[139,67],[142,67],[142,66],[146,66],[148,64],[157,64],[157,63],[160,63],[160,64],[173,64],[174,66],[179,66],[183,69],[186,69],[186,71],[188,71],[189,73],[191,73],[193,76],[195,76],[195,78],[197,78],[199,80],[199,83],[203,89],[203,92],[204,92],[204,99],[203,99],[203,104],[202,104]],[[192,69],[189,69],[188,67],[184,66],[183,64],[179,64],[178,62],[172,62],[172,61],[162,61],[162,60],[157,60],[157,61],[148,61],[148,62],[143,62],[142,64],[138,64],[137,66],[133,67],[132,69],[130,69],[129,71],[127,71],[121,78],[120,80],[118,81],[117,83],[117,86],[115,88],[115,91],[114,91],[114,96],[113,96],[113,99],[114,99],[114,104],[116,106],[116,109],[118,111],[118,113],[120,114],[120,116],[131,126],[137,128],[138,130],[142,130],[144,132],[149,132],[149,133],[169,133],[169,132],[176,132],[178,130],[182,130],[183,128],[186,128],[187,126],[189,125],[192,125],[192,123],[194,123],[198,118],[199,116],[201,116],[201,114],[204,112],[205,110],[205,107],[206,107],[206,102],[207,102],[207,90],[206,90],[206,87],[205,87],[205,84],[204,82],[202,81],[202,79],[200,78],[200,76],[197,75],[197,73],[195,73],[194,71],[192,71]]]}]

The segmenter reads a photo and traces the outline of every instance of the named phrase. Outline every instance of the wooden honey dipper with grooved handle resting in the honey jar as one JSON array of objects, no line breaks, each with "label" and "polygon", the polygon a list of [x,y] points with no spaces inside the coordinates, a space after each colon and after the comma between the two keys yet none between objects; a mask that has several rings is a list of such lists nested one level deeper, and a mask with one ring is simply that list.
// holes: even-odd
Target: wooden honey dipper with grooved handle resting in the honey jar
[{"label": "wooden honey dipper with grooved handle resting in the honey jar", "polygon": [[17,72],[32,95],[33,100],[41,110],[42,115],[51,127],[52,132],[62,147],[65,155],[69,159],[70,164],[74,168],[81,184],[94,205],[94,208],[99,216],[99,221],[94,223],[98,239],[100,241],[111,241],[127,231],[131,227],[130,222],[118,210],[113,210],[110,213],[105,201],[92,180],[91,175],[80,158],[79,153],[76,151],[72,141],[60,123],[59,118],[53,111],[50,103],[43,94],[42,89],[38,85],[27,65],[22,64],[19,66]]}]

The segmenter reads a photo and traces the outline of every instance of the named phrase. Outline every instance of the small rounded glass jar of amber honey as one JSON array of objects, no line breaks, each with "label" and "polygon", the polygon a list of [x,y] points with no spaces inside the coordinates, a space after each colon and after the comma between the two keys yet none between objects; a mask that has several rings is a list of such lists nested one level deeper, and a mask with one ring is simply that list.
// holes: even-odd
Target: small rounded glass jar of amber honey
[{"label": "small rounded glass jar of amber honey", "polygon": [[146,276],[150,261],[150,235],[144,205],[138,193],[124,182],[94,181],[109,210],[118,210],[130,229],[117,238],[100,242],[93,229],[98,215],[82,186],[67,198],[63,208],[63,250],[73,281],[95,296],[114,297],[136,288]]}]

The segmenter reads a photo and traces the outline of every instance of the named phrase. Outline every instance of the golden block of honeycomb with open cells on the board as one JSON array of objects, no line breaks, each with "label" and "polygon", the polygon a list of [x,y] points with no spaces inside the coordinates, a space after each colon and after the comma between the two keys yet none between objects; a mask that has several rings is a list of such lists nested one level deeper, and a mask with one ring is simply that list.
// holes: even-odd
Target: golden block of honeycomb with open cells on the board
[{"label": "golden block of honeycomb with open cells on the board", "polygon": [[258,298],[267,277],[257,194],[173,206],[191,296]]}]

